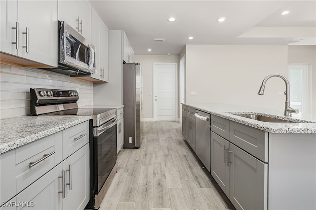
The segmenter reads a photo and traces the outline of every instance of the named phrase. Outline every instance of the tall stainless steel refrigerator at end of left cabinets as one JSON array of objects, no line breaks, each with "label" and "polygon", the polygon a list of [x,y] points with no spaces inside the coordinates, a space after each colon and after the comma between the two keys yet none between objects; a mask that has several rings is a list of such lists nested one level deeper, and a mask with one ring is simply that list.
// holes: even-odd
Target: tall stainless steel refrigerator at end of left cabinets
[{"label": "tall stainless steel refrigerator at end of left cabinets", "polygon": [[123,64],[123,148],[139,148],[141,145],[143,132],[142,101],[142,69],[140,64]]}]

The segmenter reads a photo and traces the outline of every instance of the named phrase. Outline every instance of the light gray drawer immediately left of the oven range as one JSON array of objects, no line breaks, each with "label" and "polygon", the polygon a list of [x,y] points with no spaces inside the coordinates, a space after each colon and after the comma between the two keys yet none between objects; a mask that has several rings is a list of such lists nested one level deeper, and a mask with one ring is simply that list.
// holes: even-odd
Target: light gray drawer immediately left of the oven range
[{"label": "light gray drawer immediately left of the oven range", "polygon": [[[63,130],[63,160],[89,142],[89,121]],[[91,134],[92,135],[92,134]]]}]

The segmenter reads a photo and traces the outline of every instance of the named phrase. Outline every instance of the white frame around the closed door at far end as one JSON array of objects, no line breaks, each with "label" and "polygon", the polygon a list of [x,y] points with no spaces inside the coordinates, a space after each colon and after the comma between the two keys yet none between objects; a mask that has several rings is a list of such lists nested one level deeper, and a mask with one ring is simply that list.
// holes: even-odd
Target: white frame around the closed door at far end
[{"label": "white frame around the closed door at far end", "polygon": [[153,65],[153,118],[154,121],[157,121],[157,105],[155,103],[155,95],[156,95],[156,66],[157,65],[175,65],[175,100],[174,100],[174,110],[175,110],[175,118],[174,121],[178,121],[178,63],[170,62],[170,63],[160,63],[154,62]]}]

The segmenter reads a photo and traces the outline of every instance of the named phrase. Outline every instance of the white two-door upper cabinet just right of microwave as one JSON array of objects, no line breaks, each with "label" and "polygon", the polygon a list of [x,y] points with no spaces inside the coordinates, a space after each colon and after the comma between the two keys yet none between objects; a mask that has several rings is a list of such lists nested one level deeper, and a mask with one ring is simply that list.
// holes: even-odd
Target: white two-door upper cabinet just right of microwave
[{"label": "white two-door upper cabinet just right of microwave", "polygon": [[[91,44],[95,47],[95,73],[91,78],[109,81],[109,30],[91,7]],[[96,82],[96,81],[94,81]]]}]

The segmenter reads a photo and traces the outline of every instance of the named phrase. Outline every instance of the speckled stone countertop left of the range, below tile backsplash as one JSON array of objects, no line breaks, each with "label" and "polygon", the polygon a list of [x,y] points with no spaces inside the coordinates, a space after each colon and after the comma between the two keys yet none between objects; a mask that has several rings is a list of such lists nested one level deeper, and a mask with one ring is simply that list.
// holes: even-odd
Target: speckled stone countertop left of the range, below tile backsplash
[{"label": "speckled stone countertop left of the range, below tile backsplash", "polygon": [[89,120],[90,116],[20,116],[0,120],[0,154]]}]

